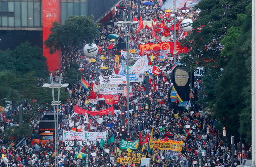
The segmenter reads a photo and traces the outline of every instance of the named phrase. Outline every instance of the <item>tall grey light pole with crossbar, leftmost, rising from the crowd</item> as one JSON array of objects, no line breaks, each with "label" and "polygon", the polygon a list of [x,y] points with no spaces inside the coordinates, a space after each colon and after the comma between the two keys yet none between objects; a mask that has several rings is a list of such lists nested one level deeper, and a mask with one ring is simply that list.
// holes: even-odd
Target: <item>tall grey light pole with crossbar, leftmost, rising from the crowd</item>
[{"label": "tall grey light pole with crossbar, leftmost, rising from the crowd", "polygon": [[[53,83],[53,75],[52,72],[50,73],[50,82],[49,83],[45,83],[43,84],[43,87],[48,87],[50,89],[52,89],[52,97],[53,97],[53,101],[52,101],[52,106],[53,106],[53,110],[54,110],[54,135],[55,135],[55,167],[59,167],[58,166],[58,127],[59,127],[59,123],[58,123],[58,108],[59,105],[61,104],[60,101],[60,91],[62,87],[67,87],[68,83],[62,84],[62,74],[60,74],[60,80],[59,83]],[[54,95],[54,89],[58,90],[58,96],[57,96],[57,101],[55,101],[55,95]]]}]

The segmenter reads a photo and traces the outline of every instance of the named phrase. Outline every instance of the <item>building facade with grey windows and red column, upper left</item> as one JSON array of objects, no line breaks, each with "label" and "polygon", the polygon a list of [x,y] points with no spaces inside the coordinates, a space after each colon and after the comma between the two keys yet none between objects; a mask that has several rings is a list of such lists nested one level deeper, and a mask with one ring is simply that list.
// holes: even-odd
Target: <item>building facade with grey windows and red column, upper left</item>
[{"label": "building facade with grey windows and red column, upper left", "polygon": [[0,50],[30,41],[43,48],[49,70],[60,69],[60,53],[50,55],[43,47],[52,23],[64,23],[71,15],[94,15],[95,22],[99,22],[121,1],[0,0]]}]

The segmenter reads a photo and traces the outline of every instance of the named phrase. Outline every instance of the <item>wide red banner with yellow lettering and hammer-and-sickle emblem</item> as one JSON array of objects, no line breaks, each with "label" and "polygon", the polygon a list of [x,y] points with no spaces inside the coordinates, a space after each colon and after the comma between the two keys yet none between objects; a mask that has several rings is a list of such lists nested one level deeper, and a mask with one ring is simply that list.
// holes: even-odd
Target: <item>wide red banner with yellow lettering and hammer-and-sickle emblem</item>
[{"label": "wide red banner with yellow lettering and hammer-and-sickle emblem", "polygon": [[[139,44],[139,50],[140,53],[139,55],[143,54],[143,51],[158,51],[158,50],[166,50],[166,49],[170,49],[170,53],[173,54],[173,50],[174,50],[174,42],[161,42],[158,44],[154,44],[154,43],[146,43],[145,45]],[[182,52],[189,52],[187,47],[181,47],[180,42],[176,43],[176,50],[178,51],[178,53],[182,53]]]}]

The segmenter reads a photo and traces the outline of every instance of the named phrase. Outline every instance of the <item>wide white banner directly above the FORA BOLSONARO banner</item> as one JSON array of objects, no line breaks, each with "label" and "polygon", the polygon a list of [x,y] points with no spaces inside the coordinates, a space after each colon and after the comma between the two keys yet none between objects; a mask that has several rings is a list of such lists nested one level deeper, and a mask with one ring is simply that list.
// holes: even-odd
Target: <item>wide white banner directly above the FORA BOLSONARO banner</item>
[{"label": "wide white banner directly above the FORA BOLSONARO banner", "polygon": [[88,131],[83,131],[83,132],[76,132],[76,131],[65,131],[63,130],[62,133],[62,141],[72,141],[72,140],[83,140],[87,141],[99,141],[103,139],[104,141],[107,140],[107,132],[88,132]]}]

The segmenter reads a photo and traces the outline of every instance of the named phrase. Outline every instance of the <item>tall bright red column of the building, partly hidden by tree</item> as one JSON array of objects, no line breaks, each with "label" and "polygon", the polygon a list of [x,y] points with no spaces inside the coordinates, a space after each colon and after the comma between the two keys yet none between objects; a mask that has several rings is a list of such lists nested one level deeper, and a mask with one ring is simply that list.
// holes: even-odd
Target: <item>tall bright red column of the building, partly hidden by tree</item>
[{"label": "tall bright red column of the building, partly hidden by tree", "polygon": [[[51,33],[50,28],[53,22],[61,22],[61,0],[42,0],[42,20],[43,20],[43,42],[47,40]],[[43,45],[43,56],[47,58],[48,70],[61,70],[61,52],[49,53]]]}]

